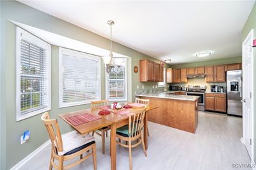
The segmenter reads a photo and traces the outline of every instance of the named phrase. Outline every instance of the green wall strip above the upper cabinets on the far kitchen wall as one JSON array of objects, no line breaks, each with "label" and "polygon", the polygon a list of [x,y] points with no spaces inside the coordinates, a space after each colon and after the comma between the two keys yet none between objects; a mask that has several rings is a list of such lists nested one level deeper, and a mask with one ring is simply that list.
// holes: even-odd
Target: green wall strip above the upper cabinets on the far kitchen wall
[{"label": "green wall strip above the upper cabinets on the far kitchen wall", "polygon": [[199,61],[195,63],[185,63],[182,65],[172,65],[171,68],[189,68],[196,66],[212,66],[212,65],[225,65],[230,63],[242,63],[242,57],[234,58],[223,58],[223,59],[213,59],[208,61]]}]

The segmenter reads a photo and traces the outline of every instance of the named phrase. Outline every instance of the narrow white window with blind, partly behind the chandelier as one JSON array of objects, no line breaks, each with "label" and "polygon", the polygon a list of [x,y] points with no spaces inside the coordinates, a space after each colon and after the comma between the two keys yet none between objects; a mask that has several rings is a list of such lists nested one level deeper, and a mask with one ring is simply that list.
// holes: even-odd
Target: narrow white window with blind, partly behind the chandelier
[{"label": "narrow white window with blind, partly behind the chandelier", "polygon": [[108,100],[126,101],[127,100],[127,78],[126,68],[127,59],[113,58],[113,61],[121,63],[122,72],[114,72],[106,74],[106,96]]}]

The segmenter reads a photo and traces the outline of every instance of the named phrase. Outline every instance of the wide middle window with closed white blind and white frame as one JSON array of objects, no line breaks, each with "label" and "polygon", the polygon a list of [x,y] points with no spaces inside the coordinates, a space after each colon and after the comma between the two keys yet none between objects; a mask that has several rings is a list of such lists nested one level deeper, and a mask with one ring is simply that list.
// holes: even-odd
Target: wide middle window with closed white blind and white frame
[{"label": "wide middle window with closed white blind and white frame", "polygon": [[100,58],[60,48],[60,107],[100,100]]}]

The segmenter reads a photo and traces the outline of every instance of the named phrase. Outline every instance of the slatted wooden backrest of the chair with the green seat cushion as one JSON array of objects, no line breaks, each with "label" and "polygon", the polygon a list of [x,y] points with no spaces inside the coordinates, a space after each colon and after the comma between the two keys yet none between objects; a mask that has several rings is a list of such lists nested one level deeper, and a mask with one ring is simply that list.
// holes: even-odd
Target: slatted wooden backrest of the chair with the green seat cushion
[{"label": "slatted wooden backrest of the chair with the green seat cushion", "polygon": [[144,126],[144,116],[145,116],[146,106],[143,109],[131,109],[132,113],[129,116],[129,136],[135,137],[141,134],[141,130]]}]

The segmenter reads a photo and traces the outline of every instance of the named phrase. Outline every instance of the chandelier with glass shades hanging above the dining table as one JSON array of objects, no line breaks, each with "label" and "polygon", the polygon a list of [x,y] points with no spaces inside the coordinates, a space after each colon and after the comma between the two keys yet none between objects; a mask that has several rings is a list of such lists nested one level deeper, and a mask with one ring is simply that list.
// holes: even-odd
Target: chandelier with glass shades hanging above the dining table
[{"label": "chandelier with glass shades hanging above the dining table", "polygon": [[115,24],[113,20],[109,20],[108,24],[110,26],[110,50],[109,50],[109,56],[102,57],[105,65],[106,65],[106,72],[110,73],[111,70],[115,73],[122,72],[121,65],[117,65],[115,61],[113,61],[113,52],[112,52],[112,26]]}]

